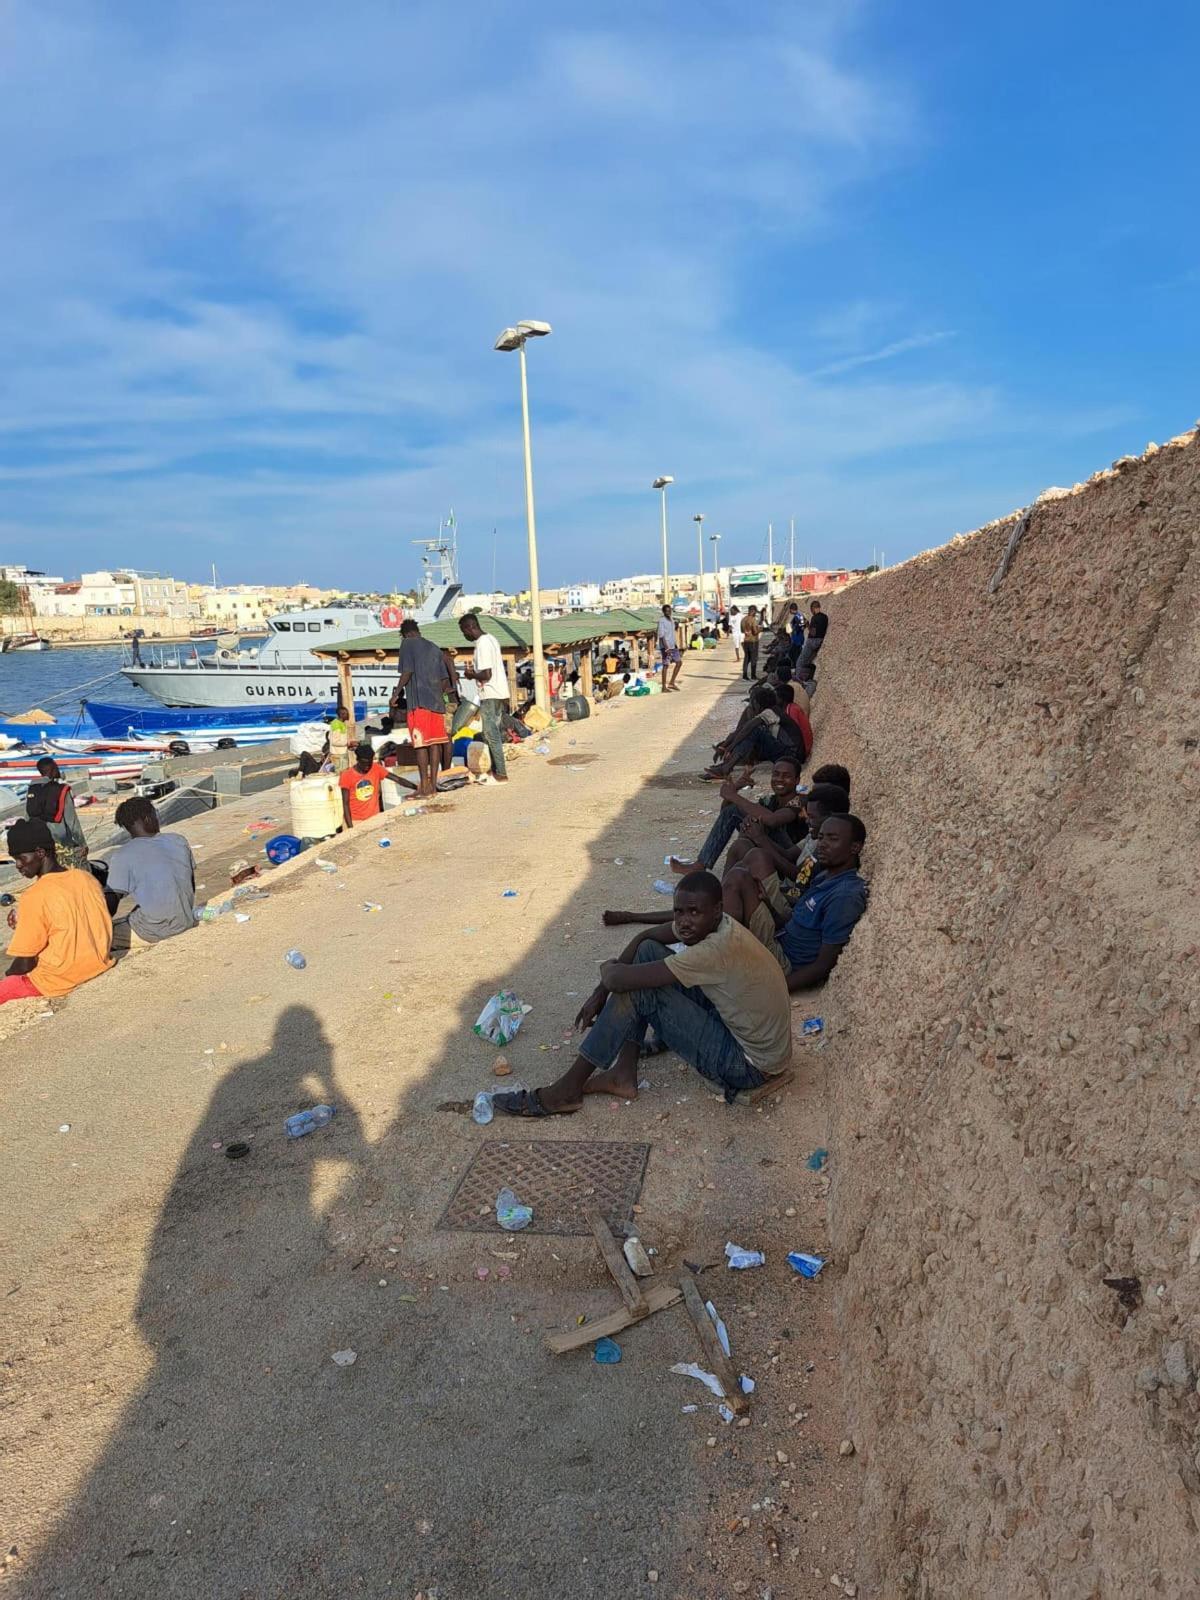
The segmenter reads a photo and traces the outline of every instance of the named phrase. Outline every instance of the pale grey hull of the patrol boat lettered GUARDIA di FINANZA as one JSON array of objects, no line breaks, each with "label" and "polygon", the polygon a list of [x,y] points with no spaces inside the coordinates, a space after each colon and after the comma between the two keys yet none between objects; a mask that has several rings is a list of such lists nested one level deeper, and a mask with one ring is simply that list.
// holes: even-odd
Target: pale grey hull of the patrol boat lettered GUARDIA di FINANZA
[{"label": "pale grey hull of the patrol boat lettered GUARDIA di FINANZA", "polygon": [[[163,706],[299,709],[333,706],[336,667],[254,667],[243,662],[200,661],[178,667],[122,667],[122,674]],[[395,661],[354,669],[354,698],[368,710],[387,710],[397,685]]]}]

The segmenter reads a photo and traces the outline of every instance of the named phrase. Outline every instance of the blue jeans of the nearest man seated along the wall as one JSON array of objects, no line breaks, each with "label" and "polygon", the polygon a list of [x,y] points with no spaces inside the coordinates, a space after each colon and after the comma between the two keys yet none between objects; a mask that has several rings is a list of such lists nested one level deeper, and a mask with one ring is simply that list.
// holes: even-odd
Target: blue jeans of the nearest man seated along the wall
[{"label": "blue jeans of the nearest man seated along the wall", "polygon": [[[666,944],[643,939],[634,965],[666,962],[669,955]],[[642,1043],[646,1027],[653,1027],[667,1050],[674,1050],[701,1077],[720,1085],[726,1101],[733,1101],[738,1090],[757,1090],[766,1082],[746,1059],[746,1051],[704,990],[685,989],[683,984],[610,995],[579,1045],[579,1054],[595,1067],[611,1067],[622,1045]]]}]

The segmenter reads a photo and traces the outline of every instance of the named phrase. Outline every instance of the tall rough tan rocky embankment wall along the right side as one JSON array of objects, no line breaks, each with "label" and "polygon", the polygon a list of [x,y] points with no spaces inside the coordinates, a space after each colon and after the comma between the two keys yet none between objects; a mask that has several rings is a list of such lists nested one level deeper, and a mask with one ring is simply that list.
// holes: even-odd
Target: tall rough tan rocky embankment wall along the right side
[{"label": "tall rough tan rocky embankment wall along the right side", "polygon": [[990,594],[1019,522],[830,606],[859,1579],[1200,1595],[1200,435],[1048,491]]}]

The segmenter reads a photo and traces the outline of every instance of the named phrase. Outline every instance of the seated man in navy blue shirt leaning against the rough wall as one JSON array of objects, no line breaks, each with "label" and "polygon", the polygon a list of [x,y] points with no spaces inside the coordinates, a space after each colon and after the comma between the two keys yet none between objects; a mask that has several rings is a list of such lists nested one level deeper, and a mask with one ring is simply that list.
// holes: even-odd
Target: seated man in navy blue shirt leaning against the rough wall
[{"label": "seated man in navy blue shirt leaning against the rough wall", "polygon": [[726,874],[725,909],[779,962],[789,994],[829,978],[854,925],[867,909],[859,858],[867,830],[856,816],[827,816],[816,840],[816,872],[790,914],[776,910],[744,869]]}]

